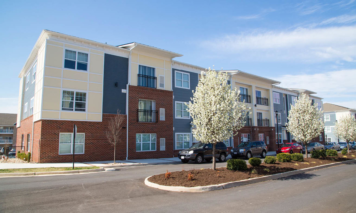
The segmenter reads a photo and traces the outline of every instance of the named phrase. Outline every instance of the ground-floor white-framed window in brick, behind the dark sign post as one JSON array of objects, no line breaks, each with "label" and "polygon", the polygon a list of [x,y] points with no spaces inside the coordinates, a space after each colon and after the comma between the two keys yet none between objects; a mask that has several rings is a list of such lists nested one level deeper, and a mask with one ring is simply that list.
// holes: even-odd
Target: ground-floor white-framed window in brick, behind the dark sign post
[{"label": "ground-floor white-framed window in brick, behind the dark sign post", "polygon": [[[74,154],[84,154],[84,133],[75,135]],[[59,133],[59,155],[73,154],[73,133]]]}]

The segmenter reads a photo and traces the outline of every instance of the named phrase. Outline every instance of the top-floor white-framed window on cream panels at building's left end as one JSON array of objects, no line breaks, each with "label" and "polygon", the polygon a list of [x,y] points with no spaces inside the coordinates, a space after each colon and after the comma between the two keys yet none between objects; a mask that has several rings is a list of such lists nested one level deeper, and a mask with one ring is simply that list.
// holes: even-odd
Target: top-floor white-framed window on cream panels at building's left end
[{"label": "top-floor white-framed window on cream panels at building's left end", "polygon": [[88,70],[88,53],[66,50],[64,53],[64,68]]}]

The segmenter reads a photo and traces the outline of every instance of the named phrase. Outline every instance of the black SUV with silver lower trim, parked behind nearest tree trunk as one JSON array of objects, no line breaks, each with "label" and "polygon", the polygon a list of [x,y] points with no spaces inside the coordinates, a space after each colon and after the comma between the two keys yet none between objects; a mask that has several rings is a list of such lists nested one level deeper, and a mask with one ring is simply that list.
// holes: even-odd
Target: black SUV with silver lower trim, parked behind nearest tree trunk
[{"label": "black SUV with silver lower trim, parked behind nearest tree trunk", "polygon": [[[220,162],[224,162],[228,154],[227,147],[223,142],[216,144],[215,157],[218,158]],[[183,163],[188,163],[189,160],[195,161],[195,163],[201,163],[203,160],[209,162],[213,159],[213,145],[201,142],[196,143],[189,149],[179,151],[178,157]]]}]

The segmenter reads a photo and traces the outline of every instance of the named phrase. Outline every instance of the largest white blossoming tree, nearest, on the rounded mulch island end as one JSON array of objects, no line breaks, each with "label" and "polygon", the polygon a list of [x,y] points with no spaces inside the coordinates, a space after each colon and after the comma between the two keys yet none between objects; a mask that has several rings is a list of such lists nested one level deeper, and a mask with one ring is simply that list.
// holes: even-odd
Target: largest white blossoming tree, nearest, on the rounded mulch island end
[{"label": "largest white blossoming tree, nearest, on the rounded mulch island end", "polygon": [[215,170],[216,143],[227,140],[234,131],[245,126],[246,104],[239,101],[240,91],[231,90],[227,73],[214,69],[201,73],[192,101],[187,104],[193,118],[194,137],[213,145],[213,170]]}]

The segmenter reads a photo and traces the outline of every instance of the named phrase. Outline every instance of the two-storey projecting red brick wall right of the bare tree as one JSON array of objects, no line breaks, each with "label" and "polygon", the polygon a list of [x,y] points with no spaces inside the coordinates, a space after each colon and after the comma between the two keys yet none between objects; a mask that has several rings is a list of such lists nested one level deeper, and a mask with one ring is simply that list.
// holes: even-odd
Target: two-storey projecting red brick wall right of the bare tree
[{"label": "two-storey projecting red brick wall right of the bare tree", "polygon": [[[138,100],[156,102],[157,122],[138,122]],[[165,120],[159,120],[159,108],[165,109]],[[136,152],[136,134],[156,134],[156,151]],[[166,139],[166,150],[159,150],[159,139]],[[173,92],[162,89],[129,86],[129,159],[173,157]]]}]

